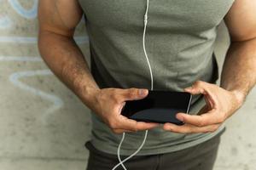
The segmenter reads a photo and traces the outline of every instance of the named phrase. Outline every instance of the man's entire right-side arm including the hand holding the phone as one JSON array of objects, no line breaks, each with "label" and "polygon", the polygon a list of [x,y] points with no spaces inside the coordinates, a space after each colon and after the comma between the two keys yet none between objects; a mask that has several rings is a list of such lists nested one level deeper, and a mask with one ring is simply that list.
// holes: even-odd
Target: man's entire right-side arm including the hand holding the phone
[{"label": "man's entire right-side arm including the hand holding the phone", "polygon": [[191,94],[203,94],[207,102],[199,113],[178,113],[182,127],[168,124],[164,129],[175,133],[214,132],[243,104],[256,83],[256,1],[236,0],[224,21],[231,44],[224,60],[220,87],[197,81],[185,88]]}]

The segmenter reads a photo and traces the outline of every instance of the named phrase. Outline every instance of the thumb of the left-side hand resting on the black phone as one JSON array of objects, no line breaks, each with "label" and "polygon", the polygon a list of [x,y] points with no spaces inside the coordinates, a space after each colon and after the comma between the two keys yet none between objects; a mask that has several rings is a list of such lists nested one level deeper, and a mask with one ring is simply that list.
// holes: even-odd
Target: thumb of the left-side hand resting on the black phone
[{"label": "thumb of the left-side hand resting on the black phone", "polygon": [[148,95],[147,88],[128,88],[124,91],[125,100],[143,99]]}]

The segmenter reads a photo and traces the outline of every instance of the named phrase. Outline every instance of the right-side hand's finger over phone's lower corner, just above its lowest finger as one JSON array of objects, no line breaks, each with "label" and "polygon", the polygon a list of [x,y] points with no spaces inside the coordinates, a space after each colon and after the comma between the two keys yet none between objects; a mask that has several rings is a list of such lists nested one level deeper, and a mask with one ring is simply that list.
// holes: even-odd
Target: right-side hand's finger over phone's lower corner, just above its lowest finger
[{"label": "right-side hand's finger over phone's lower corner, just above its lowest finger", "polygon": [[204,127],[211,124],[224,122],[224,116],[220,115],[218,112],[211,110],[202,115],[189,115],[186,113],[177,113],[177,119],[195,125],[197,127]]}]

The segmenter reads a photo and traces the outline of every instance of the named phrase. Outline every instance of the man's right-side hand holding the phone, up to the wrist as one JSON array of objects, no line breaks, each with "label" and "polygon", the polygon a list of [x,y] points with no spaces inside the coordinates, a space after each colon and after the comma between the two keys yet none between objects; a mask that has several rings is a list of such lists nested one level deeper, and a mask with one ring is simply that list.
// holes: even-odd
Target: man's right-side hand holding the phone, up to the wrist
[{"label": "man's right-side hand holding the phone, up to the wrist", "polygon": [[243,97],[236,91],[228,91],[215,84],[196,81],[192,87],[184,88],[190,94],[203,94],[207,105],[197,115],[177,113],[177,119],[183,126],[165,123],[163,128],[174,133],[214,132],[232,114],[241,107]]}]

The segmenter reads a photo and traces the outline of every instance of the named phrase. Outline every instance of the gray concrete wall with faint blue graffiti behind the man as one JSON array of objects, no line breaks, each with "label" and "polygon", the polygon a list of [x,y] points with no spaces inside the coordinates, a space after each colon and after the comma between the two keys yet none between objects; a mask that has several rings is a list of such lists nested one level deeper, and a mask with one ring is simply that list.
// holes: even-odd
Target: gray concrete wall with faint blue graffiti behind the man
[{"label": "gray concrete wall with faint blue graffiti behind the man", "polygon": [[[0,170],[84,169],[89,110],[40,59],[36,4],[36,0],[0,0]],[[76,39],[89,56],[83,25]],[[216,54],[221,68],[228,35],[224,25],[219,30]],[[241,110],[226,122],[214,169],[255,169],[255,101],[254,88]]]}]

